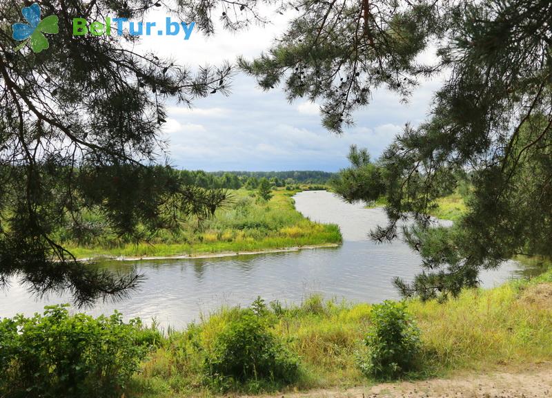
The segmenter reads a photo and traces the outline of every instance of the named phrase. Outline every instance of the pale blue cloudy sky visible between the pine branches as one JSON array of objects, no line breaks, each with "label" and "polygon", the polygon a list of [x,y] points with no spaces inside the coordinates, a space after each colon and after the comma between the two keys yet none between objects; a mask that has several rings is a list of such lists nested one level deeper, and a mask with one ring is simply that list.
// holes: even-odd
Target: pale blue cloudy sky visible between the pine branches
[{"label": "pale blue cloudy sky visible between the pine branches", "polygon": [[[159,26],[164,17],[153,15],[148,21],[159,21]],[[186,41],[183,35],[150,36],[140,46],[191,67],[234,61],[238,55],[253,58],[286,26],[286,17],[271,18],[269,26],[239,34],[219,29],[204,37],[194,30]],[[322,127],[317,104],[289,104],[278,88],[266,93],[255,79],[237,75],[228,97],[217,93],[197,100],[191,109],[169,104],[164,138],[171,164],[181,169],[337,171],[346,167],[351,144],[366,146],[377,157],[406,122],[424,120],[438,86],[438,81],[422,82],[406,105],[393,93],[374,93],[371,105],[355,113],[355,126],[337,136]]]}]

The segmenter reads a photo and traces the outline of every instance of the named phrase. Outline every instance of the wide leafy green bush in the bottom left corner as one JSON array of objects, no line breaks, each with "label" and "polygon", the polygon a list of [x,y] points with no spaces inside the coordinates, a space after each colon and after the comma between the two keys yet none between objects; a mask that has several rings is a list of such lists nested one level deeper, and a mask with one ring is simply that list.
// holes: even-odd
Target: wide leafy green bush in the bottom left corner
[{"label": "wide leafy green bush in the bottom left corner", "polygon": [[65,307],[0,321],[0,397],[121,397],[161,341],[138,319],[69,315]]}]

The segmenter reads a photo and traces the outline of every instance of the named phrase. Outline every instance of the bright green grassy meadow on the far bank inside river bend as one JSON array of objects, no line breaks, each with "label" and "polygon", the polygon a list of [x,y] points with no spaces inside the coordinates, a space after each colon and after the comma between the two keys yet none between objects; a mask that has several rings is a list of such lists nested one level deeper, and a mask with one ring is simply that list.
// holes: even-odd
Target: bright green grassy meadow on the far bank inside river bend
[{"label": "bright green grassy meadow on the far bank inside river bend", "polygon": [[64,243],[77,258],[97,256],[177,256],[224,252],[252,252],[307,245],[331,245],[342,241],[337,225],[304,218],[293,206],[297,191],[273,191],[273,198],[259,200],[254,191],[230,190],[226,207],[207,220],[191,218],[177,233],[158,231],[136,243],[125,243],[105,234],[88,244]]}]

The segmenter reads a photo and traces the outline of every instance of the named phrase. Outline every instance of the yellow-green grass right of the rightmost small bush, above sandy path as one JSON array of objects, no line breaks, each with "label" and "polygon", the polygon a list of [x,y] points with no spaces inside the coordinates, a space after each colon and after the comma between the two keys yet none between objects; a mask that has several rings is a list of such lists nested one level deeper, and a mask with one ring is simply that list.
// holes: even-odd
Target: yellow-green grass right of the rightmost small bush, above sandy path
[{"label": "yellow-green grass right of the rightmost small bush, above sandy path", "polygon": [[465,290],[442,305],[410,303],[424,331],[427,363],[436,370],[480,370],[552,359],[552,301],[531,299],[545,281],[552,272],[533,283]]}]

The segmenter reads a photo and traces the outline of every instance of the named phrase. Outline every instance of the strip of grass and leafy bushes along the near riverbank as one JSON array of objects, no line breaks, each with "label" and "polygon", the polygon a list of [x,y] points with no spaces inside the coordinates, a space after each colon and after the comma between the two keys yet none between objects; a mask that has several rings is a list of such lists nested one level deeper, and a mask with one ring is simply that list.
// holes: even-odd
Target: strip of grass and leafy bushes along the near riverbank
[{"label": "strip of grass and leafy bushes along the near riverbank", "polygon": [[[409,299],[403,301],[403,315],[400,304],[391,302],[311,296],[299,305],[283,305],[257,299],[250,307],[222,307],[201,316],[185,330],[159,330],[139,321],[123,323],[118,314],[95,320],[50,307],[42,317],[0,322],[0,394],[23,392],[29,383],[35,395],[70,394],[74,391],[63,390],[70,377],[86,381],[83,388],[101,387],[103,397],[209,397],[371,385],[388,378],[366,372],[366,361],[377,353],[368,347],[368,337],[373,340],[377,328],[397,328],[393,320],[400,316],[414,331],[416,347],[411,367],[395,376],[400,379],[551,361],[551,263],[546,268],[540,276],[492,289],[466,288],[444,303]],[[75,366],[50,366],[69,357]],[[81,392],[98,396],[92,389]]]}]

